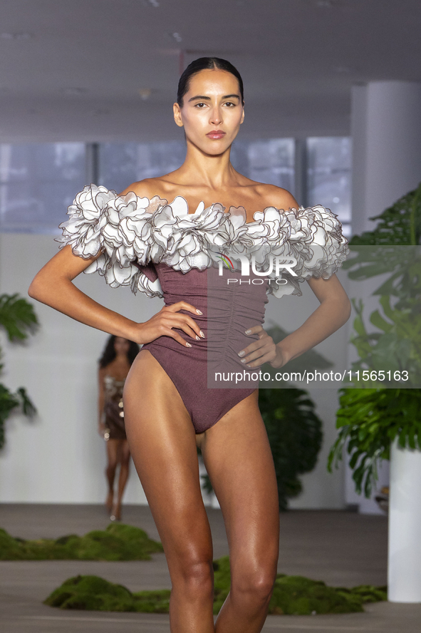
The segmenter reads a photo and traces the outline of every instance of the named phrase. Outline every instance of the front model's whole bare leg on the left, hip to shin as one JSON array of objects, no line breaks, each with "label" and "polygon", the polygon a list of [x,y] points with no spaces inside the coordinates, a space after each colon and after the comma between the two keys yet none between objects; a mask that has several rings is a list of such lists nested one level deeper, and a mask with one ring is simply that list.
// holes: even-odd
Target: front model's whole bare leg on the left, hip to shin
[{"label": "front model's whole bare leg on the left, hip to shin", "polygon": [[174,384],[147,350],[126,379],[124,411],[130,452],[170,570],[171,632],[214,633],[212,540],[194,428]]}]

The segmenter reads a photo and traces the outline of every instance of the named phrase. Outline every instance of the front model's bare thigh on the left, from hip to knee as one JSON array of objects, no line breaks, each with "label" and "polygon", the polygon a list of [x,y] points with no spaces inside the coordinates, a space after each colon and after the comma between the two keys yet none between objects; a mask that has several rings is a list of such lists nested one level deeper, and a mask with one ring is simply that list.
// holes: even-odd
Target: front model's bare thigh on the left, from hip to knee
[{"label": "front model's bare thigh on the left, from hip to knee", "polygon": [[192,421],[174,384],[147,350],[140,351],[126,379],[124,411],[130,453],[170,572],[180,557],[212,557]]}]

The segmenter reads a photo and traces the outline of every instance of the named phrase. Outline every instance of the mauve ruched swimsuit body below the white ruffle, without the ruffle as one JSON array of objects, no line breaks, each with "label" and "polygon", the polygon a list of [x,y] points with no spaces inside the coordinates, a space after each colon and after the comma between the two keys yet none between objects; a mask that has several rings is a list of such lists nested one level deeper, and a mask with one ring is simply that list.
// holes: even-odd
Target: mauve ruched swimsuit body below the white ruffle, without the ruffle
[{"label": "mauve ruched swimsuit body below the white ruffle, without the ruffle", "polygon": [[186,301],[203,312],[180,311],[189,314],[205,334],[197,341],[177,330],[192,347],[184,347],[170,336],[160,336],[142,347],[175,384],[194,430],[202,433],[259,386],[259,381],[249,381],[248,388],[208,388],[208,371],[211,376],[215,371],[244,374],[238,352],[257,338],[247,336],[245,330],[264,321],[267,284],[259,279],[253,285],[253,275],[250,282],[227,284],[227,276],[219,277],[215,268],[183,273],[167,264],[149,264],[142,272],[152,281],[159,278],[165,305]]}]

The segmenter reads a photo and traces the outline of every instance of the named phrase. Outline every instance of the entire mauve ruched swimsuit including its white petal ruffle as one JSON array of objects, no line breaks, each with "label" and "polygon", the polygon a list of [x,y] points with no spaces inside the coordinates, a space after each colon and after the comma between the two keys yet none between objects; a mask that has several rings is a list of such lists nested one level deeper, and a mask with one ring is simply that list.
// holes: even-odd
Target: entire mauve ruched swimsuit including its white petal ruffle
[{"label": "entire mauve ruched swimsuit including its white petal ruffle", "polygon": [[[117,195],[87,185],[68,207],[68,216],[57,240],[62,247],[70,245],[73,254],[85,259],[101,252],[85,272],[99,272],[111,287],[130,286],[132,292],[163,297],[167,305],[184,300],[202,311],[186,314],[200,326],[204,339],[196,341],[180,331],[192,347],[160,336],[142,348],[175,384],[196,433],[213,426],[258,387],[251,376],[239,388],[232,388],[232,381],[219,388],[217,376],[244,373],[238,352],[257,338],[245,330],[263,323],[267,294],[300,295],[300,282],[328,279],[348,254],[341,222],[321,205],[288,211],[266,207],[246,222],[243,207],[225,212],[222,205],[205,208],[201,203],[189,213],[182,196],[168,204],[158,196],[148,200],[134,192]],[[238,270],[238,261],[242,266],[247,257],[253,272],[227,284],[223,265],[236,270],[237,259]],[[268,268],[271,257],[293,262],[282,279]],[[266,279],[262,271],[270,271]]]}]

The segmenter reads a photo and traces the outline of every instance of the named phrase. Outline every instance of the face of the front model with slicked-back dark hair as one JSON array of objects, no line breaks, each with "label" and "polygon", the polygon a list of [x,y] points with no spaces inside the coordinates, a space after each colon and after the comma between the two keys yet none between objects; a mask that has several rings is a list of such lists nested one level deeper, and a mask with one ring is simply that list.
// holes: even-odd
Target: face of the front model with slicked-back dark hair
[{"label": "face of the front model with slicked-back dark hair", "polygon": [[174,104],[174,118],[197,148],[210,155],[222,154],[244,120],[237,78],[216,69],[193,75],[182,108]]}]

